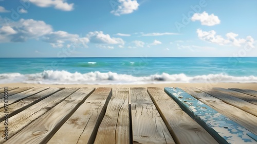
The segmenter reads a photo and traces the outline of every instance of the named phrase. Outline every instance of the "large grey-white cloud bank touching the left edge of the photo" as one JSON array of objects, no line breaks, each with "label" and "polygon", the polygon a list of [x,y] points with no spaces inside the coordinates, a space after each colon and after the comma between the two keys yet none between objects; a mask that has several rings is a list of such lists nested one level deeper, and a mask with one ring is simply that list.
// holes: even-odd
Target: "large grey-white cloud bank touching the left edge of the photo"
[{"label": "large grey-white cloud bank touching the left edge of the photo", "polygon": [[69,42],[73,45],[86,47],[89,39],[79,37],[78,34],[70,34],[65,31],[53,31],[51,25],[43,21],[24,20],[6,24],[0,17],[0,43],[25,42],[28,39],[41,39],[50,43],[52,47],[63,47]]}]

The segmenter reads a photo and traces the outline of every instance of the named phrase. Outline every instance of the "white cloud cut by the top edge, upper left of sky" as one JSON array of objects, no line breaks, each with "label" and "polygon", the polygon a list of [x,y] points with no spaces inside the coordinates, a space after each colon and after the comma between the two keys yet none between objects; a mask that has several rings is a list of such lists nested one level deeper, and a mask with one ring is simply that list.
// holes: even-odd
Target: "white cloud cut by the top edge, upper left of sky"
[{"label": "white cloud cut by the top edge, upper left of sky", "polygon": [[63,11],[71,11],[73,10],[74,4],[68,4],[65,1],[66,0],[24,0],[29,1],[36,6],[39,7],[54,7],[55,9],[63,10]]}]

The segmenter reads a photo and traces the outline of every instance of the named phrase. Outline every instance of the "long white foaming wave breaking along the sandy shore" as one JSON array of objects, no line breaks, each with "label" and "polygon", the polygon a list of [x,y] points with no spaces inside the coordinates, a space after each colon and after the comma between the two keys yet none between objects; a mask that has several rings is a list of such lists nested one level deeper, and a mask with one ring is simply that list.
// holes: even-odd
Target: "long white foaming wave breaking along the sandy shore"
[{"label": "long white foaming wave breaking along the sandy shore", "polygon": [[217,83],[241,82],[256,83],[256,76],[235,77],[226,74],[209,74],[187,76],[185,74],[155,74],[144,77],[117,74],[113,72],[100,73],[94,71],[86,74],[69,73],[68,71],[45,70],[42,73],[23,75],[20,73],[0,74],[0,83],[41,83],[41,84],[143,84],[143,83]]}]

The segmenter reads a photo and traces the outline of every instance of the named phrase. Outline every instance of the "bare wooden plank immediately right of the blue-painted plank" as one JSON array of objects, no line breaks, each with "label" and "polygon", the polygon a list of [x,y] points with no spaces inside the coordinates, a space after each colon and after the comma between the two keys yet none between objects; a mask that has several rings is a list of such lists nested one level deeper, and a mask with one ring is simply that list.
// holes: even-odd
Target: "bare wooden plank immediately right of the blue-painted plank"
[{"label": "bare wooden plank immediately right of the blue-painted plank", "polygon": [[245,127],[250,132],[257,135],[257,117],[251,115],[235,106],[227,104],[220,99],[217,99],[209,94],[199,91],[197,88],[182,88],[188,94],[194,98],[200,100],[201,102],[207,104],[212,109],[218,111],[219,113],[225,115],[229,119],[237,122],[238,124]]}]

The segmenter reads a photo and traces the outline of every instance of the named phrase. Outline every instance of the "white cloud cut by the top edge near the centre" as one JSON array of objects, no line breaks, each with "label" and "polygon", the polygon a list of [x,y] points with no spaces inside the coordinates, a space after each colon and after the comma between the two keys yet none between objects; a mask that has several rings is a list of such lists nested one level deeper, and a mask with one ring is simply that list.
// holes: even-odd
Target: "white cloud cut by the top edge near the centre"
[{"label": "white cloud cut by the top edge near the centre", "polygon": [[129,14],[138,9],[139,4],[136,0],[118,0],[120,5],[117,10],[112,10],[111,13],[120,16],[121,14]]}]

